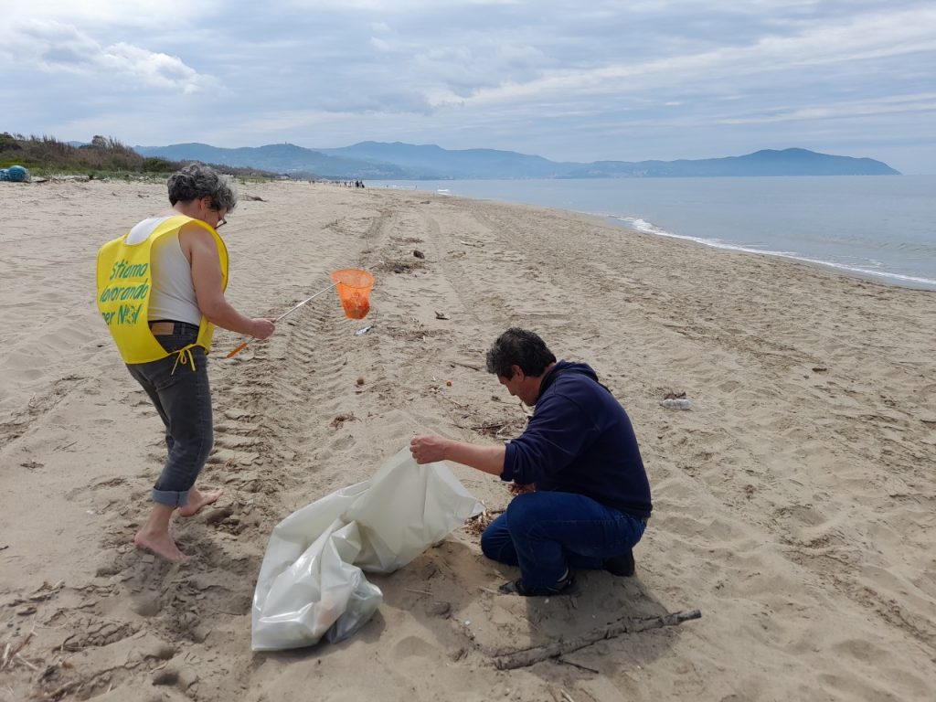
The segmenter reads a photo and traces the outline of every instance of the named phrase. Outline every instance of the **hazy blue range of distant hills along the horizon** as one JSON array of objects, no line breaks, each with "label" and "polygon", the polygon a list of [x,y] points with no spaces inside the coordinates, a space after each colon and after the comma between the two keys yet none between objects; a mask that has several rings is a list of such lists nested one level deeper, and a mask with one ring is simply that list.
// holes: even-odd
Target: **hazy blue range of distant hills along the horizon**
[{"label": "hazy blue range of distant hills along the horizon", "polygon": [[806,149],[768,149],[699,160],[568,163],[495,149],[447,150],[399,141],[361,141],[340,149],[305,149],[295,144],[223,149],[199,143],[134,148],[139,154],[172,161],[201,161],[261,168],[296,178],[339,180],[899,175],[881,161],[817,154]]}]

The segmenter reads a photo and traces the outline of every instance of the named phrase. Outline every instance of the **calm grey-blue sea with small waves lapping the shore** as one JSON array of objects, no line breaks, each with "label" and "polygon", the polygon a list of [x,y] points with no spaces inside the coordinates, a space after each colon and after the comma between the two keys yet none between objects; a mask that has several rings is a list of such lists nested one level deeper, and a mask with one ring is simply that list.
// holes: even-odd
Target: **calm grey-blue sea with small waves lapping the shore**
[{"label": "calm grey-blue sea with small waves lapping the shore", "polygon": [[649,234],[936,290],[936,176],[366,184],[585,212]]}]

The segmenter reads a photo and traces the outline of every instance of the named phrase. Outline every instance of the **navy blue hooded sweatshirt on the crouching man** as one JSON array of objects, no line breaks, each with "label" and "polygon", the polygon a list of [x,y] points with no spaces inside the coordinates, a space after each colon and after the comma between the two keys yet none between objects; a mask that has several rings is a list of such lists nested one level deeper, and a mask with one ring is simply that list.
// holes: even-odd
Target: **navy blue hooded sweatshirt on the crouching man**
[{"label": "navy blue hooded sweatshirt on the crouching man", "polygon": [[585,363],[561,360],[543,377],[533,417],[506,445],[502,480],[576,492],[650,517],[650,483],[621,403]]}]

